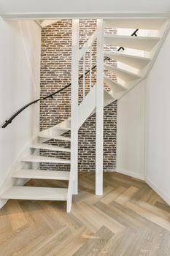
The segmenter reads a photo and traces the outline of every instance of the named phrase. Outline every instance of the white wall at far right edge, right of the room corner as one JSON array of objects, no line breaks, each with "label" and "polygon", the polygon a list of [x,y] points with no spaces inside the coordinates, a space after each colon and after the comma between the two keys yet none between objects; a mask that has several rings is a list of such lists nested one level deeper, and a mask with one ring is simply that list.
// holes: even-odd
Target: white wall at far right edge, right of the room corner
[{"label": "white wall at far right edge, right of the room corner", "polygon": [[170,33],[147,78],[146,181],[170,204]]}]

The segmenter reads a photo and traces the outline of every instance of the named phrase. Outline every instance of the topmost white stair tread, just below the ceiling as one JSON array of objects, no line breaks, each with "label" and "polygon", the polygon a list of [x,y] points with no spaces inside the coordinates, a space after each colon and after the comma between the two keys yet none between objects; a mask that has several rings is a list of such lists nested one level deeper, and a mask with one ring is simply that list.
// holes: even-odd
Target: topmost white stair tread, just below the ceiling
[{"label": "topmost white stair tread, just below the ceiling", "polygon": [[165,19],[163,18],[115,18],[105,19],[106,27],[124,29],[160,29]]}]

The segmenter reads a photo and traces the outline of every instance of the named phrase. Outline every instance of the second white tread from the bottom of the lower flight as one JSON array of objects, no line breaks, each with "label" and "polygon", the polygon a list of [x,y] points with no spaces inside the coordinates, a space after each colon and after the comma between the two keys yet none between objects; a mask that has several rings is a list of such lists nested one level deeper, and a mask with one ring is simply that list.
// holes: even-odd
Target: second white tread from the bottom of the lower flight
[{"label": "second white tread from the bottom of the lower flight", "polygon": [[39,178],[39,179],[54,179],[54,180],[69,180],[70,172],[58,170],[18,170],[12,174],[12,178]]}]

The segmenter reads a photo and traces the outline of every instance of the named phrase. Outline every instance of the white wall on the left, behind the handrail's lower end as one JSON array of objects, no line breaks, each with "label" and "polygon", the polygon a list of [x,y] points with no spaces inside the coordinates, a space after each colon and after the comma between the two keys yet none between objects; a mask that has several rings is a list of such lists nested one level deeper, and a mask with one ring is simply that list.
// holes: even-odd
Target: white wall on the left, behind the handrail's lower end
[{"label": "white wall on the left, behind the handrail's lower end", "polygon": [[[34,21],[0,20],[0,124],[39,98],[41,30]],[[0,187],[12,164],[39,131],[39,105],[0,129]]]}]

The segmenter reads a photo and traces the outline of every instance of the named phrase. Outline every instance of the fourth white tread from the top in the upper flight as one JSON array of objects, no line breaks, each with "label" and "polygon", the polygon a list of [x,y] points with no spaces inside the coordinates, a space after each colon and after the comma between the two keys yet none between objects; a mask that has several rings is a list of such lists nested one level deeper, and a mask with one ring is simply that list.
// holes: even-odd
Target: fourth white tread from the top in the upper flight
[{"label": "fourth white tread from the top in the upper flight", "polygon": [[141,75],[129,72],[128,70],[121,69],[120,67],[115,67],[110,64],[104,63],[104,68],[111,71],[113,74],[118,75],[123,80],[134,80],[141,78]]}]

